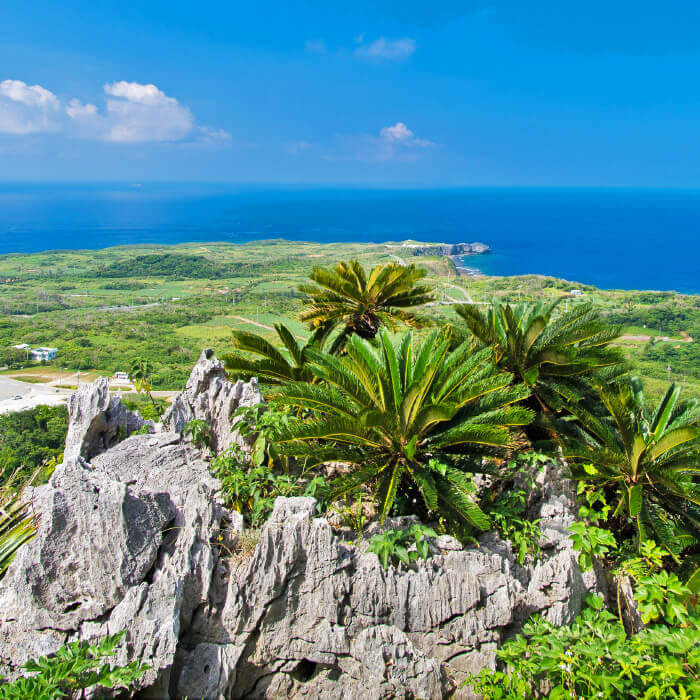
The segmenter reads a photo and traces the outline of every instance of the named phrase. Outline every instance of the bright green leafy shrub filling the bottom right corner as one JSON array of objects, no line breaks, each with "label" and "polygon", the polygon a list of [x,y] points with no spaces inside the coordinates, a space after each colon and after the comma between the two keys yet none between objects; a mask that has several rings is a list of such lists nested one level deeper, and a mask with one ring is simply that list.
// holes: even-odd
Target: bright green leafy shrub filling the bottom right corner
[{"label": "bright green leafy shrub filling the bottom right corner", "polygon": [[489,700],[700,697],[700,618],[656,625],[628,638],[601,598],[571,625],[533,618],[497,652],[507,671],[484,669],[467,683]]}]

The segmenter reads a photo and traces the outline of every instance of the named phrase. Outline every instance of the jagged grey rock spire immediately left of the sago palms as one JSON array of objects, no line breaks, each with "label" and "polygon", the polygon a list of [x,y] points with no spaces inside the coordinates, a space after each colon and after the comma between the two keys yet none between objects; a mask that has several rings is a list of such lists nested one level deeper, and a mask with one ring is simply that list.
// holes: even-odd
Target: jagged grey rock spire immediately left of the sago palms
[{"label": "jagged grey rock spire immediately left of the sago palms", "polygon": [[211,428],[211,449],[214,454],[233,444],[246,447],[231,418],[241,406],[263,403],[258,381],[230,382],[224,363],[214,357],[212,350],[203,350],[194,366],[185,390],[178,394],[163,416],[163,424],[176,433],[182,433],[192,420],[204,420]]}]

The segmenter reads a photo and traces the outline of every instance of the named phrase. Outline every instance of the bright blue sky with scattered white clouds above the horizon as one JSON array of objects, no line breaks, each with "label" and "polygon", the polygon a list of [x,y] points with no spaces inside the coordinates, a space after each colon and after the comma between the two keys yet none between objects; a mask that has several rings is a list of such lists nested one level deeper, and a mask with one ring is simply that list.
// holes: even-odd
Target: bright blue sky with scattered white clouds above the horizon
[{"label": "bright blue sky with scattered white clouds above the horizon", "polygon": [[0,179],[700,186],[700,6],[3,4]]}]

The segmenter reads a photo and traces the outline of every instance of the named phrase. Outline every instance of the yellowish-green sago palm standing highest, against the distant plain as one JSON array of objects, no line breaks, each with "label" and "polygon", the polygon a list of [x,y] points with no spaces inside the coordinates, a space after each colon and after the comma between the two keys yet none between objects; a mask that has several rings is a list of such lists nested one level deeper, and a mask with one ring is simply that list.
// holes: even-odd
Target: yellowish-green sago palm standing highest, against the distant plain
[{"label": "yellowish-green sago palm standing highest, against the distant plain", "polygon": [[343,342],[349,335],[374,338],[382,324],[413,322],[406,309],[433,299],[430,287],[418,284],[426,275],[416,265],[388,263],[365,271],[357,260],[339,262],[330,270],[315,267],[299,291],[306,295],[301,320],[312,328],[340,326]]}]

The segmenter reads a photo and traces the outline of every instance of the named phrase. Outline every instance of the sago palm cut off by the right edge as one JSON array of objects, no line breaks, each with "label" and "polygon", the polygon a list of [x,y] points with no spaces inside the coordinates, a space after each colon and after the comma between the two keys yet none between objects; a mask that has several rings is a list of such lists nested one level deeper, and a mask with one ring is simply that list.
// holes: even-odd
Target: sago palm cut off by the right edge
[{"label": "sago palm cut off by the right edge", "polygon": [[679,402],[680,390],[671,384],[653,406],[636,378],[599,392],[607,415],[572,408],[578,434],[565,441],[564,457],[574,475],[616,487],[615,514],[634,521],[640,543],[651,528],[657,541],[672,544],[674,521],[700,538],[697,400]]}]

